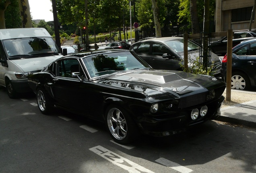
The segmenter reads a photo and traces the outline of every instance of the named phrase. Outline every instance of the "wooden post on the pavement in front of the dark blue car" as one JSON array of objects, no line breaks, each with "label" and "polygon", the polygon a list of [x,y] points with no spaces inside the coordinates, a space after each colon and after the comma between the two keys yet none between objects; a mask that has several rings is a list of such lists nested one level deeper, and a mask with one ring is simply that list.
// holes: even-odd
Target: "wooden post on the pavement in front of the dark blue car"
[{"label": "wooden post on the pavement in front of the dark blue car", "polygon": [[232,74],[232,37],[233,30],[227,31],[227,78],[226,101],[231,101],[231,74]]}]

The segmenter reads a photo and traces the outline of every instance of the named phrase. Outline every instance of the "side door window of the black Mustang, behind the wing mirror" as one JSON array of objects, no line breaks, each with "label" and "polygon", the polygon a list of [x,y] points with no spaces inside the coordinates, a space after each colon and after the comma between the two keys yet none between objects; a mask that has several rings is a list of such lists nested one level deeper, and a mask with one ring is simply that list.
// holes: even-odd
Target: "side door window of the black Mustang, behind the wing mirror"
[{"label": "side door window of the black Mustang, behind the wing mirror", "polygon": [[85,77],[77,59],[64,59],[58,61],[58,70],[57,76],[72,78],[72,72],[79,72],[81,77]]}]

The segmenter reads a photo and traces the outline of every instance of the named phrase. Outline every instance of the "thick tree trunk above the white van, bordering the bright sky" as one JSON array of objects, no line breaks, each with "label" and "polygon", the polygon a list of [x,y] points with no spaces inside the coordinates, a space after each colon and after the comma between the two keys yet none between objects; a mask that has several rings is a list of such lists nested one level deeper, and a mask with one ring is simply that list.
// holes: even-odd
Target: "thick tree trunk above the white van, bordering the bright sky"
[{"label": "thick tree trunk above the white van, bordering the bright sky", "polygon": [[19,8],[21,11],[21,21],[23,28],[32,28],[29,0],[20,0]]}]

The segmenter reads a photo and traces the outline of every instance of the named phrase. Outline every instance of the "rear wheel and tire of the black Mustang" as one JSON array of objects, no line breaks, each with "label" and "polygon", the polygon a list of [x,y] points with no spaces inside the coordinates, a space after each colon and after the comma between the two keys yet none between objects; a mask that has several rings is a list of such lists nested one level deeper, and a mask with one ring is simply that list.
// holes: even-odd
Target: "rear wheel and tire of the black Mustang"
[{"label": "rear wheel and tire of the black Mustang", "polygon": [[38,88],[36,92],[37,106],[41,113],[48,115],[51,113],[54,105],[50,101],[50,96],[44,89]]}]

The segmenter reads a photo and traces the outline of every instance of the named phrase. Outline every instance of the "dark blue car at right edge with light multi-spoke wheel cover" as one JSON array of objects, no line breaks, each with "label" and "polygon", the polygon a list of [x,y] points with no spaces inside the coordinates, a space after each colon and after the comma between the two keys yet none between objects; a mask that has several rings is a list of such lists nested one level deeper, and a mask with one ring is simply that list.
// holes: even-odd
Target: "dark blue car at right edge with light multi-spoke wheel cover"
[{"label": "dark blue car at right edge with light multi-spoke wheel cover", "polygon": [[[223,57],[221,73],[226,80],[227,55]],[[232,49],[231,89],[250,90],[256,87],[256,39],[246,40]]]}]

